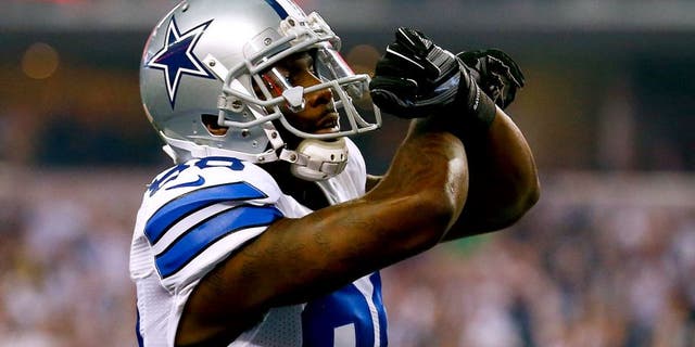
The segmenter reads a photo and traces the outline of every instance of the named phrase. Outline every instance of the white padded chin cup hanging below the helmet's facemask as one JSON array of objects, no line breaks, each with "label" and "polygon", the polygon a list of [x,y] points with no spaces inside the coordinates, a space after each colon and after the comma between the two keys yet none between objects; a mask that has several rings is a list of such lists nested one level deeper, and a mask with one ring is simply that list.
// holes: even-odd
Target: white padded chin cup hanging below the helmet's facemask
[{"label": "white padded chin cup hanging below the helmet's facemask", "polygon": [[280,159],[292,164],[292,175],[307,181],[324,181],[342,172],[348,165],[345,139],[303,140],[296,151],[283,149]]}]

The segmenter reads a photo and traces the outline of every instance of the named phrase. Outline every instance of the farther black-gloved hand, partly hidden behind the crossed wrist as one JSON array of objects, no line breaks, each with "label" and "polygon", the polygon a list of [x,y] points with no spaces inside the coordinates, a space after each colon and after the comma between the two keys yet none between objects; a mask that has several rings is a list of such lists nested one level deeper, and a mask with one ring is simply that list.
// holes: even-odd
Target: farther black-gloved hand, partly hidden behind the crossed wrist
[{"label": "farther black-gloved hand, partly hidden behind the crossed wrist", "polygon": [[525,83],[519,65],[505,52],[496,49],[466,51],[457,54],[478,86],[497,106],[507,107]]}]

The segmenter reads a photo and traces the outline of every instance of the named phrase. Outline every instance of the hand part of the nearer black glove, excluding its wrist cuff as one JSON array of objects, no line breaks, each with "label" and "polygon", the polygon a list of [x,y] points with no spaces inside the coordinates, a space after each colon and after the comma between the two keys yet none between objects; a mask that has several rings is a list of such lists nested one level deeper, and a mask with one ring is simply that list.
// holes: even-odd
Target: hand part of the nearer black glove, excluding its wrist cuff
[{"label": "hand part of the nearer black glove, excluding its wrist cuff", "polygon": [[379,108],[403,118],[428,116],[451,104],[458,91],[460,67],[451,52],[422,33],[399,28],[369,83]]}]

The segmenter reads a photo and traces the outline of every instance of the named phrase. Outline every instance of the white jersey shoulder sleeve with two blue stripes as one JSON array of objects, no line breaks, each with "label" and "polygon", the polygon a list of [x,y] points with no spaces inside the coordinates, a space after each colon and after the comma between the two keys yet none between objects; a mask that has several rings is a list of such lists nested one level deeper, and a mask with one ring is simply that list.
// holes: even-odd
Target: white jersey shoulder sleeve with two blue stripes
[{"label": "white jersey shoulder sleeve with two blue stripes", "polygon": [[139,224],[162,285],[182,290],[264,232],[282,217],[279,194],[267,172],[232,158],[194,159],[160,175]]}]

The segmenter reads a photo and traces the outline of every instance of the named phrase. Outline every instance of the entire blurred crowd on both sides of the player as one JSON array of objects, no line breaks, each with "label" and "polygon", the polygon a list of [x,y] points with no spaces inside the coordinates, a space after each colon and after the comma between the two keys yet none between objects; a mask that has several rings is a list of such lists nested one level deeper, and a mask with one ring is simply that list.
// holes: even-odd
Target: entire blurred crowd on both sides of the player
[{"label": "entire blurred crowd on both sides of the player", "polygon": [[[135,346],[127,257],[155,170],[0,175],[0,347]],[[578,187],[577,189],[581,189]],[[695,345],[695,207],[559,203],[383,271],[390,343]]]}]

